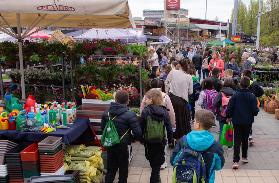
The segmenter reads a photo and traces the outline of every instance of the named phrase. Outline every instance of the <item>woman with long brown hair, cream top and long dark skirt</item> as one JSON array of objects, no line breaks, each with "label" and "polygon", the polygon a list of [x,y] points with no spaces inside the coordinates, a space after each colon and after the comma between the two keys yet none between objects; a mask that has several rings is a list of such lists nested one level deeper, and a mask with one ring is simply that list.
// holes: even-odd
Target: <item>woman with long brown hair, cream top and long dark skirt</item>
[{"label": "woman with long brown hair, cream top and long dark skirt", "polygon": [[175,113],[176,131],[174,139],[176,142],[191,132],[188,95],[193,93],[192,76],[188,74],[188,63],[186,59],[179,61],[179,70],[171,70],[165,84],[166,93],[171,99]]}]

